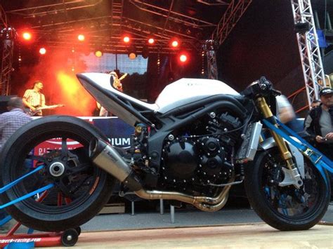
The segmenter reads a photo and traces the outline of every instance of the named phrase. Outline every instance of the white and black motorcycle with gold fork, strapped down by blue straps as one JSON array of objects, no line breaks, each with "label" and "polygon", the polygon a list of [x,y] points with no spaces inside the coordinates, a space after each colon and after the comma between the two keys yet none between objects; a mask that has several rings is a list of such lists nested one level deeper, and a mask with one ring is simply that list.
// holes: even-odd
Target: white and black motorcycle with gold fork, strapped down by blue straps
[{"label": "white and black motorcycle with gold fork, strapped down by blue straps", "polygon": [[[282,231],[310,229],[325,215],[327,173],[274,131],[261,136],[263,119],[277,126],[273,113],[280,94],[264,77],[241,93],[221,81],[181,79],[154,104],[113,88],[109,74],[77,77],[96,101],[133,126],[131,147],[112,147],[95,126],[73,116],[46,116],[20,128],[0,161],[2,186],[20,181],[1,194],[1,202],[50,186],[6,208],[25,226],[79,227],[103,208],[117,182],[123,196],[214,212],[226,205],[230,188],[244,181],[254,211]],[[57,148],[34,152],[51,139],[59,141]]]}]

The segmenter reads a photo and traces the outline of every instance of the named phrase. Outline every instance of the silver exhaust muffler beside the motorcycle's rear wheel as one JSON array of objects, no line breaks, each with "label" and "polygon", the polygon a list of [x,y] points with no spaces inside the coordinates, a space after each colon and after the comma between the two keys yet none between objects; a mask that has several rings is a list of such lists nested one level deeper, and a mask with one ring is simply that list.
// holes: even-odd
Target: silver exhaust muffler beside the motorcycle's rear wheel
[{"label": "silver exhaust muffler beside the motorcycle's rear wheel", "polygon": [[122,159],[122,156],[108,142],[100,139],[92,140],[89,144],[89,157],[96,166],[126,184],[131,191],[142,189],[141,180],[133,172],[131,166]]}]

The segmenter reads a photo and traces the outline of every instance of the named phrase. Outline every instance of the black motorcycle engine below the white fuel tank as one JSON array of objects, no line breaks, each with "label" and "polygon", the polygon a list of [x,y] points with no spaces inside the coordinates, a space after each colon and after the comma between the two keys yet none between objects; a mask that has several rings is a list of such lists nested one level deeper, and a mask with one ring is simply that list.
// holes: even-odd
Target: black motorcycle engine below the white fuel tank
[{"label": "black motorcycle engine below the white fuel tank", "polygon": [[227,183],[234,173],[233,147],[240,140],[240,126],[240,119],[228,112],[211,112],[185,134],[169,135],[163,150],[164,186],[186,190]]}]

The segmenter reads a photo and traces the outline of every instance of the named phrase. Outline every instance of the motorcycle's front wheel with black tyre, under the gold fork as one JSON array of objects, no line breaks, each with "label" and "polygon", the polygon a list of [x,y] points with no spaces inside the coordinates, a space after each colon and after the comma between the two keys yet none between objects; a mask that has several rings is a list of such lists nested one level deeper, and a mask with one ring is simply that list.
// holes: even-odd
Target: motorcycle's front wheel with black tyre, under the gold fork
[{"label": "motorcycle's front wheel with black tyre, under the gold fork", "polygon": [[259,152],[254,162],[247,166],[244,186],[254,211],[261,219],[281,231],[306,230],[317,224],[329,205],[329,180],[327,184],[318,169],[304,158],[303,185],[280,187],[284,179],[285,161],[278,149]]}]

